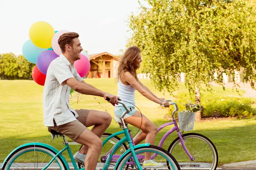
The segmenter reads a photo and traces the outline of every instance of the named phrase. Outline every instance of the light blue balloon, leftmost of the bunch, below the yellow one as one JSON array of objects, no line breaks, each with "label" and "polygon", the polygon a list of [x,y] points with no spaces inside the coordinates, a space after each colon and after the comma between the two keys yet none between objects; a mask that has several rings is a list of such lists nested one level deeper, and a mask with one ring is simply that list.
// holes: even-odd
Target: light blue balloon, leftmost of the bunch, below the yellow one
[{"label": "light blue balloon, leftmost of the bunch, below the yellow one", "polygon": [[22,46],[23,56],[25,57],[26,60],[34,64],[36,63],[38,55],[46,50],[46,48],[39,48],[35,46],[33,42],[31,42],[31,40],[27,40]]}]

